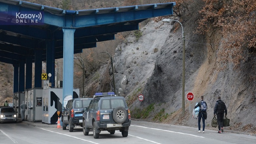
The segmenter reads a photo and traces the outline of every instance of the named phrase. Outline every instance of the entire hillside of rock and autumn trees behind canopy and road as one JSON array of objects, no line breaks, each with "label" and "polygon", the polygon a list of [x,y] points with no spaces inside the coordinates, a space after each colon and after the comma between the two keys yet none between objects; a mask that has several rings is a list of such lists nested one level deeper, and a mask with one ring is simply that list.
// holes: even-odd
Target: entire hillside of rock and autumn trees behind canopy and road
[{"label": "entire hillside of rock and autumn trees behind canopy and road", "polygon": [[[94,9],[172,1],[33,2],[59,8],[63,7],[62,2],[70,2],[67,5],[70,9]],[[86,65],[85,95],[114,90],[109,56],[100,53],[108,51],[114,58],[116,91],[126,98],[133,118],[197,127],[197,120],[190,112],[200,96],[204,96],[208,105],[206,129],[209,129],[220,96],[231,119],[231,126],[226,129],[255,134],[255,9],[254,0],[176,0],[173,16],[146,20],[137,31],[118,33],[117,40],[99,43],[97,48],[75,55]],[[184,116],[181,26],[177,22],[163,24],[163,18],[179,20],[185,32],[185,95],[193,92],[195,99],[190,103],[185,98]],[[58,63],[61,71],[61,60]],[[1,75],[10,73],[11,70],[4,69],[7,67],[11,65],[1,64]],[[76,60],[74,68],[74,87],[81,94],[81,62]],[[6,78],[1,81],[2,98],[12,95],[4,92],[7,88],[4,83],[10,83],[11,88],[12,78],[10,75],[9,82]],[[139,94],[145,97],[142,102],[138,100]]]}]

